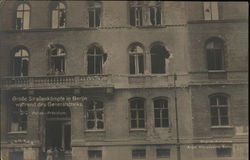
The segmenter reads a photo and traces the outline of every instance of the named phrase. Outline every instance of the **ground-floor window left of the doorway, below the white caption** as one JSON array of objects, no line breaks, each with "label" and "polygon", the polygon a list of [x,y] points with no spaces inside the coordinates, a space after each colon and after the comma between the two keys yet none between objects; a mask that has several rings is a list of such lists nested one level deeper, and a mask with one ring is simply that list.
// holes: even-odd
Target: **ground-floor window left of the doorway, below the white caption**
[{"label": "ground-floor window left of the doorway, below the white caption", "polygon": [[11,107],[11,125],[10,130],[12,132],[16,131],[26,131],[27,130],[27,106],[18,107],[12,105]]}]

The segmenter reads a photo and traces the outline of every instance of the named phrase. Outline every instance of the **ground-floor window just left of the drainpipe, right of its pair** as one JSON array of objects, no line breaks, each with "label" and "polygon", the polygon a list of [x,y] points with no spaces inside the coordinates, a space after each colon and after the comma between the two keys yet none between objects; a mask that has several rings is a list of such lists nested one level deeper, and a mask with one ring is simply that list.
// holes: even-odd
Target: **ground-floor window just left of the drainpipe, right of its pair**
[{"label": "ground-floor window just left of the drainpipe, right of its pair", "polygon": [[169,127],[168,101],[154,100],[155,127]]}]

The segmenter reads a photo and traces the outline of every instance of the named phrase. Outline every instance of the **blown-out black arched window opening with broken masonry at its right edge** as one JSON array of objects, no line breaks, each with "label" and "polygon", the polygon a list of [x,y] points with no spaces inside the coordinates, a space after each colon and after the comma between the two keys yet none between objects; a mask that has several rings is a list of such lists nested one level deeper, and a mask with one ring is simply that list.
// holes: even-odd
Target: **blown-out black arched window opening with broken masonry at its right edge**
[{"label": "blown-out black arched window opening with broken masonry at its right edge", "polygon": [[166,73],[166,59],[169,52],[162,44],[154,44],[151,53],[151,72],[156,74]]}]

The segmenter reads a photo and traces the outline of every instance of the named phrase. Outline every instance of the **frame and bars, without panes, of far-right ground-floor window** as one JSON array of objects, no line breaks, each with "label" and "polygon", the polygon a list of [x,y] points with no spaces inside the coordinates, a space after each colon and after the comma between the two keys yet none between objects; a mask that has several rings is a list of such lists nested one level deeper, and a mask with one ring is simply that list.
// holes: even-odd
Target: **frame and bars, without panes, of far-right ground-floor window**
[{"label": "frame and bars, without panes, of far-right ground-floor window", "polygon": [[[218,98],[223,97],[226,99],[226,105],[221,105],[219,104],[219,100]],[[216,98],[216,104],[213,105],[211,104],[211,99],[212,98]],[[231,122],[230,122],[230,97],[224,93],[217,93],[217,94],[213,94],[210,95],[208,98],[208,102],[209,102],[209,108],[210,108],[210,124],[212,127],[225,127],[225,126],[230,126]],[[212,115],[212,108],[216,109],[217,115]],[[220,109],[221,108],[226,108],[227,110],[227,115],[224,115],[221,117],[220,114]],[[227,118],[227,124],[222,124],[222,118],[226,117]],[[217,124],[213,124],[213,118],[217,118]]]}]

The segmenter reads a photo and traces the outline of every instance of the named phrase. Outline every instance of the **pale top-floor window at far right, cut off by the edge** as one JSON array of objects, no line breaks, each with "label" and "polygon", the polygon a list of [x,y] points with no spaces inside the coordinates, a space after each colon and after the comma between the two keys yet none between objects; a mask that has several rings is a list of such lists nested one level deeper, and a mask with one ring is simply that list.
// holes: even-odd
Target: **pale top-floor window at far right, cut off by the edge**
[{"label": "pale top-floor window at far right, cut off by the edge", "polygon": [[218,2],[203,2],[205,20],[219,20]]}]

